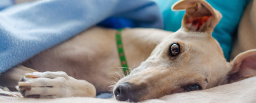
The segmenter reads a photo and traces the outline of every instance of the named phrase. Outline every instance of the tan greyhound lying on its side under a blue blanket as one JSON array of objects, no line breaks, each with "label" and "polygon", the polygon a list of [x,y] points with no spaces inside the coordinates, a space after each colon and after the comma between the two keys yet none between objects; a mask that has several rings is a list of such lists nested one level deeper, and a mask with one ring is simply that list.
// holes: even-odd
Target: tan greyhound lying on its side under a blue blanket
[{"label": "tan greyhound lying on its side under a blue blanket", "polygon": [[222,15],[205,0],[181,0],[172,10],[186,10],[176,32],[142,28],[121,32],[128,66],[135,68],[128,76],[120,76],[124,72],[118,68],[116,30],[93,27],[4,72],[1,85],[15,86],[21,78],[18,85],[24,97],[95,97],[96,91],[108,92],[116,79],[114,97],[138,102],[256,75],[256,50],[226,62],[211,36]]}]

